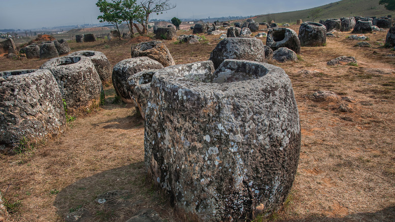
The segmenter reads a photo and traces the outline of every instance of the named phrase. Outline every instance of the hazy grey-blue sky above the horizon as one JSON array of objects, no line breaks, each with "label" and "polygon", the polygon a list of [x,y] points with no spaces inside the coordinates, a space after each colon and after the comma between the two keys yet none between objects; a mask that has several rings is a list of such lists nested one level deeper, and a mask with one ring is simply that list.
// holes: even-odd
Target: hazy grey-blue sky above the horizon
[{"label": "hazy grey-blue sky above the horizon", "polygon": [[[137,0],[139,2],[140,0]],[[30,29],[99,23],[97,0],[1,0],[0,29]],[[261,15],[309,9],[336,0],[170,0],[175,9],[150,18],[207,18]]]}]

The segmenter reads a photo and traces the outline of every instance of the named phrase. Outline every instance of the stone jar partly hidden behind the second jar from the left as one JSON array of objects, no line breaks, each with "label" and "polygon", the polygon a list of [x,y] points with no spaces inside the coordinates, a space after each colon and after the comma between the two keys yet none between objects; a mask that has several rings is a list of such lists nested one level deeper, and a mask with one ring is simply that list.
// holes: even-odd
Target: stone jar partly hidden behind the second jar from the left
[{"label": "stone jar partly hidden behind the second jar from the left", "polygon": [[96,71],[99,74],[101,82],[110,83],[111,82],[111,63],[104,55],[104,53],[99,51],[82,50],[70,53],[69,56],[86,56],[95,65]]}]

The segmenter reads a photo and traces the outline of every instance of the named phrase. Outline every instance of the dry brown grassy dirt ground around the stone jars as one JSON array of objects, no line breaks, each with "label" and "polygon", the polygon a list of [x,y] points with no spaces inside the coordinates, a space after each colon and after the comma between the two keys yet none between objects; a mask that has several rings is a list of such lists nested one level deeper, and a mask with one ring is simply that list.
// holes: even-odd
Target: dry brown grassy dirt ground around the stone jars
[{"label": "dry brown grassy dirt ground around the stone jars", "polygon": [[[191,31],[178,34],[185,33]],[[292,80],[302,145],[290,202],[265,220],[395,221],[395,57],[388,56],[394,52],[382,47],[386,32],[366,34],[371,48],[354,47],[358,41],[346,40],[350,34],[335,33],[338,37],[328,38],[325,47],[302,47],[297,62],[271,62]],[[181,64],[210,57],[219,35],[205,38],[200,45],[165,42]],[[101,51],[115,65],[130,58],[137,42],[69,45],[72,51]],[[358,66],[326,64],[343,55],[354,56]],[[0,57],[0,70],[38,68],[45,61]],[[307,95],[319,90],[353,99],[311,101]],[[90,221],[125,221],[147,207],[167,221],[180,220],[145,181],[143,121],[133,104],[117,103],[114,97],[107,86],[105,105],[78,116],[60,137],[23,154],[0,156],[0,191],[9,203],[17,203],[9,221],[62,221],[80,208],[89,211]],[[342,103],[352,112],[340,112]],[[130,194],[113,203],[94,201],[111,190]]]}]

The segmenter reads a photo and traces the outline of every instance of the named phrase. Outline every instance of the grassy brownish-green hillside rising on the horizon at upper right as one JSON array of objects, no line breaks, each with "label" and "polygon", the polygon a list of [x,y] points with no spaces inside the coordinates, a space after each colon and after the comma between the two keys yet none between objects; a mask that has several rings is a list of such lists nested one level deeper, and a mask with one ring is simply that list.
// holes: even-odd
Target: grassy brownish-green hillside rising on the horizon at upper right
[{"label": "grassy brownish-green hillside rising on the horizon at upper right", "polygon": [[319,18],[314,20],[314,22],[319,21],[320,19],[341,18],[347,16],[381,17],[395,14],[392,11],[386,10],[384,6],[379,5],[379,1],[380,0],[343,0],[311,9],[259,15],[254,17],[254,20],[256,22],[264,22],[273,19],[277,23],[295,23],[297,19],[312,21],[311,18],[308,18],[308,14],[311,10],[318,8],[323,9],[323,12]]}]

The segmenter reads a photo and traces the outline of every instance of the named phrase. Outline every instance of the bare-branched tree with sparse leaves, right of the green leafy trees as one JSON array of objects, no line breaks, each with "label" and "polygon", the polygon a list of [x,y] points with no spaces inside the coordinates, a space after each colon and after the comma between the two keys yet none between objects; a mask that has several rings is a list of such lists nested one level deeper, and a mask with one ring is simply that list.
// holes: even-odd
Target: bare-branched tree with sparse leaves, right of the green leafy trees
[{"label": "bare-branched tree with sparse leaves, right of the green leafy trees", "polygon": [[144,18],[141,21],[141,24],[143,25],[143,34],[146,34],[150,14],[163,14],[164,11],[176,8],[176,5],[171,5],[169,0],[144,0],[141,2],[141,7],[143,8],[144,12]]}]

